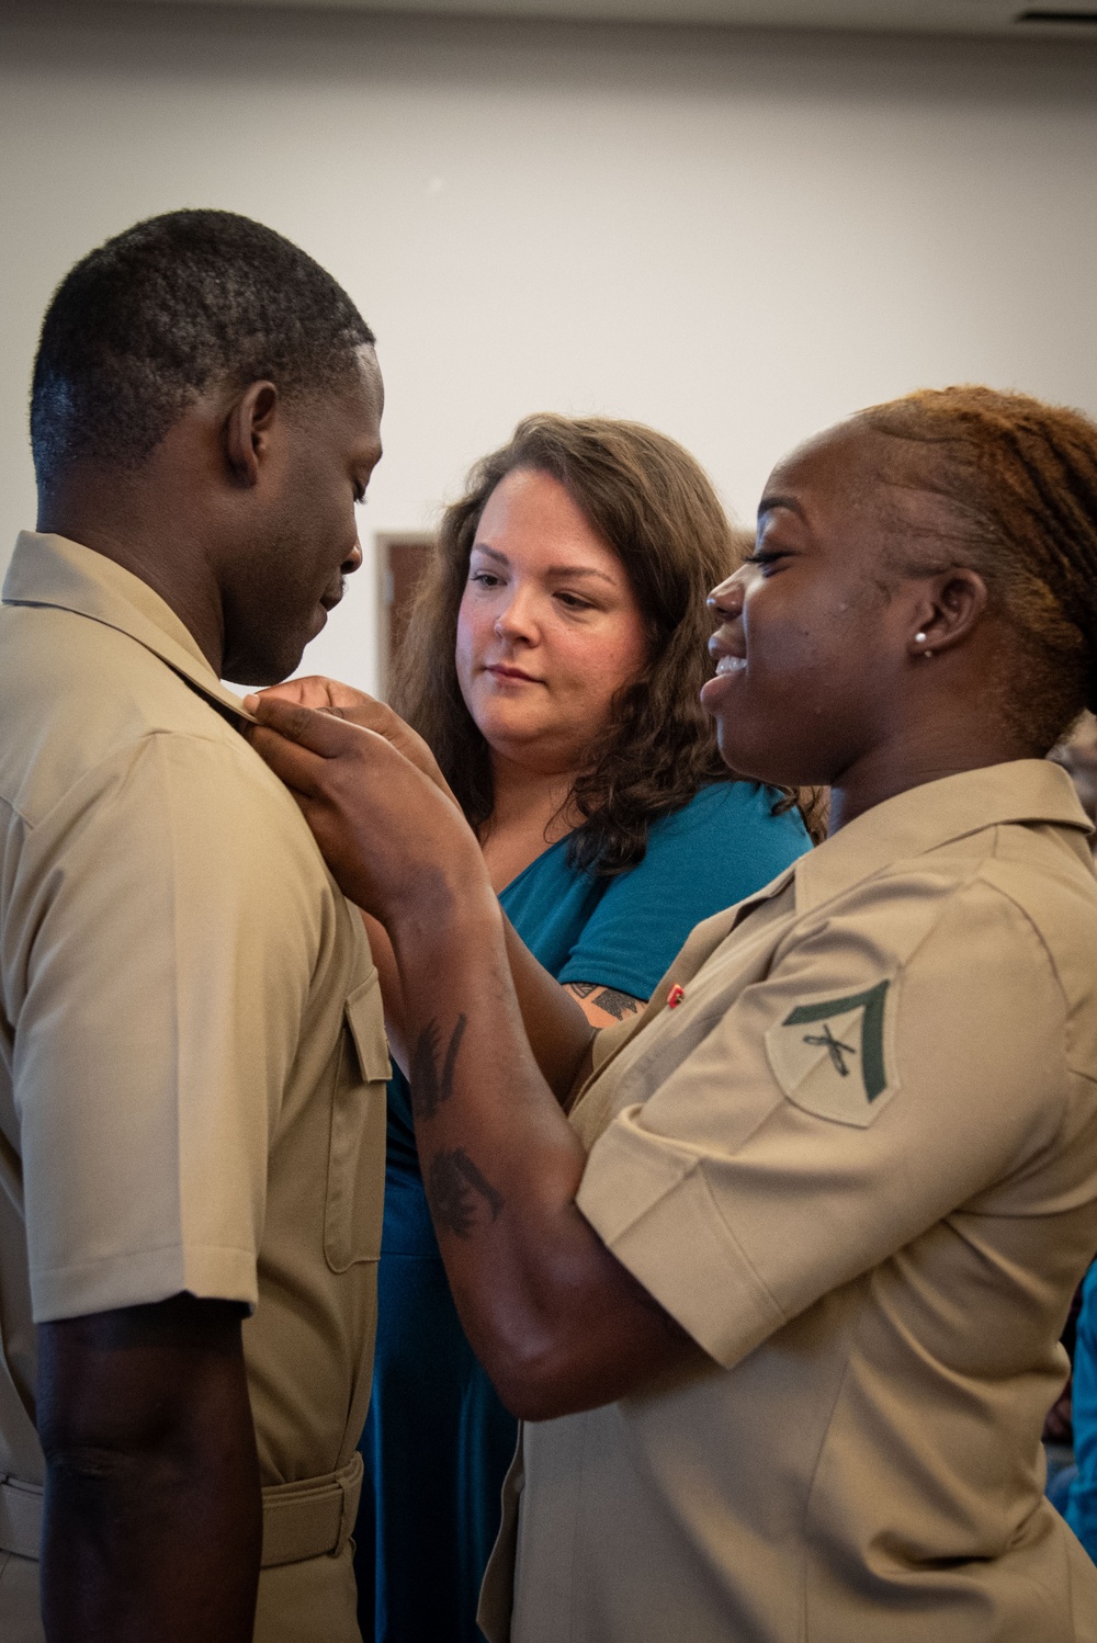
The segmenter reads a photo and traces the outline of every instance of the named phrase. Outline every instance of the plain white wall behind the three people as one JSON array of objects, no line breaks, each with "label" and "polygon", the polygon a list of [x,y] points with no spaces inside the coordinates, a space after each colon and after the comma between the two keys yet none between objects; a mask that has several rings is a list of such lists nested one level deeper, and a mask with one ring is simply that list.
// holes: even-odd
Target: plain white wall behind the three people
[{"label": "plain white wall behind the three people", "polygon": [[[790,444],[920,383],[1097,414],[1095,94],[1077,44],[39,0],[0,21],[0,557],[51,289],[177,205],[291,235],[374,325],[363,541],[532,409],[665,429],[744,516]],[[351,588],[305,665],[369,687]]]}]

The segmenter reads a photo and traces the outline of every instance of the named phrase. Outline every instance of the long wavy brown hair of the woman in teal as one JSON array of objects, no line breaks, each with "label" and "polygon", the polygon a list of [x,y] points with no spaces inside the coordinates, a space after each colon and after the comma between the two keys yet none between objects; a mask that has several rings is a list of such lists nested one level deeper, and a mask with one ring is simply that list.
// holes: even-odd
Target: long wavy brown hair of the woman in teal
[{"label": "long wavy brown hair of the woman in teal", "polygon": [[491,756],[457,679],[457,614],[488,496],[517,468],[563,485],[621,560],[647,628],[647,667],[617,693],[613,721],[571,792],[583,818],[571,835],[571,861],[611,876],[642,861],[652,822],[682,810],[701,787],[737,779],[698,695],[711,677],[705,598],[750,539],[732,531],[688,450],[639,422],[529,416],[509,444],[475,465],[465,495],[442,518],[391,700],[427,741],[478,830],[494,808]]}]

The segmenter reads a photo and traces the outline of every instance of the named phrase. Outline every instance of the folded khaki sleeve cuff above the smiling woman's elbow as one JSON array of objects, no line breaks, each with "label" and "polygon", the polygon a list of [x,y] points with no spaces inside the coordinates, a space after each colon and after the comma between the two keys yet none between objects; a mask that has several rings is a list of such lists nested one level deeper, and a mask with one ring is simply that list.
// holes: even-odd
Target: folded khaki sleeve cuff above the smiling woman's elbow
[{"label": "folded khaki sleeve cuff above the smiling woman's elbow", "polygon": [[731,1369],[788,1319],[719,1214],[701,1160],[639,1130],[640,1111],[626,1109],[598,1139],[576,1204],[621,1265]]}]

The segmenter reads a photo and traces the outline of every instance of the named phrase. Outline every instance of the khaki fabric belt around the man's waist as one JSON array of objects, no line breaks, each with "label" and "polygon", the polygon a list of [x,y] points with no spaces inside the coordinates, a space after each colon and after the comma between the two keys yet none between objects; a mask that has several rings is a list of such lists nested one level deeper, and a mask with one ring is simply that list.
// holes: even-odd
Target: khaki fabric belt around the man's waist
[{"label": "khaki fabric belt around the man's waist", "polygon": [[[263,1567],[335,1556],[355,1530],[361,1495],[361,1456],[338,1472],[274,1484],[263,1490]],[[43,1492],[13,1477],[0,1480],[0,1551],[38,1558]]]}]

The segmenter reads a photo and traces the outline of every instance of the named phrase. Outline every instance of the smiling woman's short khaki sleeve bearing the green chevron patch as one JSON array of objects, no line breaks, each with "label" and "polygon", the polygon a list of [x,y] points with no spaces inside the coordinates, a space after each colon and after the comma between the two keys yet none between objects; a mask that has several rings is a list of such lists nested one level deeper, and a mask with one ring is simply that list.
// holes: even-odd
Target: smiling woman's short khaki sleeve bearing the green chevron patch
[{"label": "smiling woman's short khaki sleeve bearing the green chevron patch", "polygon": [[[1066,1006],[1046,948],[987,884],[933,902],[925,882],[865,891],[728,1009],[698,973],[701,1004],[624,1052],[637,1099],[622,1089],[578,1204],[724,1365],[1058,1144]],[[934,922],[900,963],[911,907]]]}]

